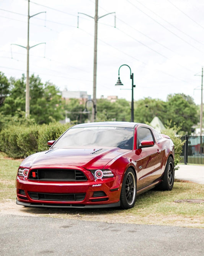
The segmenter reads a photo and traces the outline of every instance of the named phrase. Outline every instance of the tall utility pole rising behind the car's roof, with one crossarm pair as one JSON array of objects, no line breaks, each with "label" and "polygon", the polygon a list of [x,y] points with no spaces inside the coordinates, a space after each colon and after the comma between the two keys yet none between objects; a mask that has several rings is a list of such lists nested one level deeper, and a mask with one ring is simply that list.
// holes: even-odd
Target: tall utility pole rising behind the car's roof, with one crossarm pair
[{"label": "tall utility pole rising behind the car's roof, with one crossarm pair", "polygon": [[[95,33],[94,33],[94,60],[93,60],[93,101],[96,106],[96,70],[97,70],[97,37],[98,37],[98,20],[100,18],[103,18],[104,16],[107,16],[109,14],[115,13],[115,12],[110,12],[107,13],[101,17],[98,17],[98,0],[95,0],[95,17],[91,17],[90,15],[87,15],[82,12],[78,12],[78,14],[83,14],[86,15],[90,18],[93,18],[95,20]],[[78,27],[78,26],[77,26]],[[114,26],[116,27],[116,25]],[[96,108],[92,109],[92,116],[94,116],[94,113],[96,114]],[[93,120],[93,118],[92,118]]]}]

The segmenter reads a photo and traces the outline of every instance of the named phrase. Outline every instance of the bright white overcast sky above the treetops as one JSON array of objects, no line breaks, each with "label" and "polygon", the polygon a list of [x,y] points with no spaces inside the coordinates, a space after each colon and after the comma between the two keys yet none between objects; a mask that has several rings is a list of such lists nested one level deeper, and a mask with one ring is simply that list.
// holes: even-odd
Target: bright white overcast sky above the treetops
[{"label": "bright white overcast sky above the treetops", "polygon": [[[43,12],[29,19],[29,74],[93,96],[95,1],[32,0],[29,7],[30,16]],[[96,98],[131,101],[134,73],[134,100],[184,93],[200,105],[203,14],[203,0],[98,0]],[[28,0],[0,0],[0,24],[0,71],[20,79]],[[120,68],[124,86],[115,86],[121,65],[130,69]]]}]

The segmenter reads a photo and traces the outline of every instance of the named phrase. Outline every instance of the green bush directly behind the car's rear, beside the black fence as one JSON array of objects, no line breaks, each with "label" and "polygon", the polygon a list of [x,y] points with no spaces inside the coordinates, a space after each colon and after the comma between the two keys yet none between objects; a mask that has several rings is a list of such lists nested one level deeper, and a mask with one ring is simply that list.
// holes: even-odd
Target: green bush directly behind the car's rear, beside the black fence
[{"label": "green bush directly behind the car's rear, beside the black fence", "polygon": [[181,141],[180,137],[177,135],[177,132],[178,132],[178,128],[176,127],[166,128],[165,130],[162,131],[163,134],[168,135],[173,141],[174,149],[175,149],[175,159],[174,159],[175,170],[179,169],[178,163],[180,163],[182,146],[185,143],[185,141]]}]

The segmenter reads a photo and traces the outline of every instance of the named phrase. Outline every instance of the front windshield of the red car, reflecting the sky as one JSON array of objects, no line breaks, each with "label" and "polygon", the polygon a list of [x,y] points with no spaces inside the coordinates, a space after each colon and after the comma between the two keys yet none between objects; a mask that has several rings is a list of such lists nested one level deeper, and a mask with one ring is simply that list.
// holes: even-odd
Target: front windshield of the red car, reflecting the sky
[{"label": "front windshield of the red car, reflecting the sky", "polygon": [[62,135],[53,148],[110,146],[132,150],[133,136],[134,128],[104,126],[71,128]]}]

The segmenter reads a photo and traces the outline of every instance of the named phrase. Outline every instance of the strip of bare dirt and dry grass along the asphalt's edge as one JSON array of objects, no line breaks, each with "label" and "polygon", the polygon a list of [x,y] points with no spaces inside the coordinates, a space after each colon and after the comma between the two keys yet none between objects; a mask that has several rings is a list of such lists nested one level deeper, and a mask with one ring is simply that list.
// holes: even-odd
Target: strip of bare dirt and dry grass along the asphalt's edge
[{"label": "strip of bare dirt and dry grass along the asphalt's edge", "polygon": [[80,219],[85,221],[103,221],[107,223],[132,223],[204,228],[203,218],[199,216],[195,216],[193,218],[178,215],[160,216],[159,214],[150,214],[149,216],[134,216],[128,211],[126,214],[124,214],[124,211],[113,208],[86,210],[70,208],[24,207],[16,204],[13,199],[8,199],[0,203],[0,214]]}]

